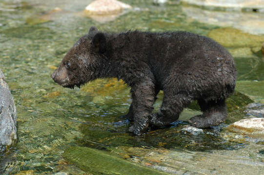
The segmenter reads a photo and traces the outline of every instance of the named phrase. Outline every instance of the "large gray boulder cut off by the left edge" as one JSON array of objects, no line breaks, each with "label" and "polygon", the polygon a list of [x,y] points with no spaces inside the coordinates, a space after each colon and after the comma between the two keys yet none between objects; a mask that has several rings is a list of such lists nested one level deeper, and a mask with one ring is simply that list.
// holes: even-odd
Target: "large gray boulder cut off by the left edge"
[{"label": "large gray boulder cut off by the left edge", "polygon": [[11,92],[0,70],[0,153],[17,140],[17,110]]}]

